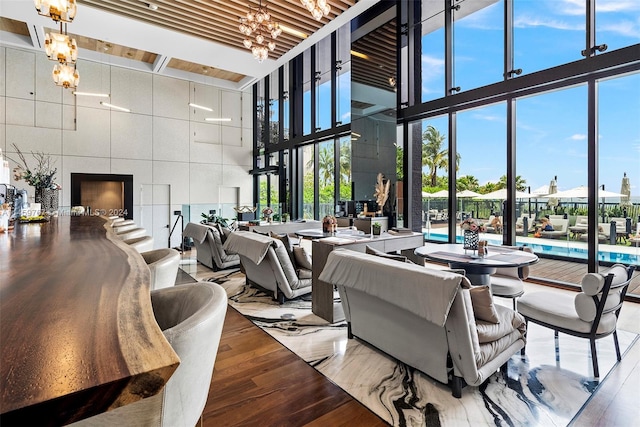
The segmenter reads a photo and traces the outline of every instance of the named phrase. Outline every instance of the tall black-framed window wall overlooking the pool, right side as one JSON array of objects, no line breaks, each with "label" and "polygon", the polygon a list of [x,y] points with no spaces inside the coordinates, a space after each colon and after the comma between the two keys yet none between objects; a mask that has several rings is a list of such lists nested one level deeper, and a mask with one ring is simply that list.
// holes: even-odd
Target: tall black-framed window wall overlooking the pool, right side
[{"label": "tall black-framed window wall overlooking the pool, right side", "polygon": [[[597,226],[589,233],[575,227],[577,217],[585,215],[590,215],[590,221],[597,219],[603,228],[611,227],[609,218],[627,218],[634,231],[639,220],[633,205],[638,178],[623,170],[627,161],[634,162],[635,170],[640,164],[640,154],[634,151],[637,142],[633,142],[640,140],[640,125],[630,119],[640,109],[637,7],[631,2],[614,5],[604,0],[400,4],[398,16],[404,20],[399,25],[406,28],[401,56],[405,69],[400,75],[409,82],[402,82],[400,95],[404,102],[400,122],[408,129],[405,134],[415,144],[419,137],[412,129],[420,123],[421,132],[431,125],[434,135],[447,138],[446,148],[459,156],[459,170],[453,175],[441,170],[434,179],[455,176],[456,187],[446,183],[449,192],[475,188],[486,194],[492,188],[506,187],[507,195],[516,195],[505,205],[505,199],[485,201],[483,197],[458,197],[457,204],[452,204],[430,196],[439,187],[424,180],[422,205],[431,211],[429,218],[445,209],[438,206],[439,200],[450,211],[458,211],[448,212],[447,226],[440,227],[448,234],[441,237],[432,221],[425,223],[425,236],[454,241],[452,215],[486,218],[487,214],[505,213],[506,208],[504,220],[526,215],[530,230],[523,229],[518,219],[517,224],[510,224],[503,243],[535,245],[542,256],[584,263],[585,272],[597,270],[594,260],[598,254],[606,261],[602,256],[605,246],[612,246],[607,250],[613,255],[608,256],[640,264],[635,253],[620,258],[621,253],[633,252],[624,237],[618,235],[612,242],[598,235]],[[405,55],[411,48],[413,52]],[[413,81],[419,82],[419,96],[411,87]],[[436,120],[441,123],[434,124]],[[613,142],[618,140],[626,145]],[[624,160],[614,160],[616,151],[625,153]],[[500,159],[499,164],[494,159]],[[421,166],[425,166],[424,159]],[[619,176],[614,179],[611,174]],[[620,197],[601,193],[621,192],[625,179],[631,187],[626,205]],[[593,199],[578,192],[580,186],[589,185],[600,191],[594,197],[594,189],[590,190]],[[561,197],[548,195],[549,191],[572,189],[576,192]],[[606,197],[600,197],[602,194]],[[638,201],[635,203],[637,206]],[[558,224],[567,222],[567,231],[536,237],[534,221],[543,216]]]}]

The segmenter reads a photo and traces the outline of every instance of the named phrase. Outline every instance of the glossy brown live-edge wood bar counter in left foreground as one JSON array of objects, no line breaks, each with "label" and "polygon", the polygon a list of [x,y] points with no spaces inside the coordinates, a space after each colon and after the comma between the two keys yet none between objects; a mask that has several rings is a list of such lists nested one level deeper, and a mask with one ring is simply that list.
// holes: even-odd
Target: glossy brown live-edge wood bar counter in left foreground
[{"label": "glossy brown live-edge wood bar counter in left foreground", "polygon": [[142,257],[96,216],[0,233],[0,425],[63,425],[158,393],[179,359]]}]

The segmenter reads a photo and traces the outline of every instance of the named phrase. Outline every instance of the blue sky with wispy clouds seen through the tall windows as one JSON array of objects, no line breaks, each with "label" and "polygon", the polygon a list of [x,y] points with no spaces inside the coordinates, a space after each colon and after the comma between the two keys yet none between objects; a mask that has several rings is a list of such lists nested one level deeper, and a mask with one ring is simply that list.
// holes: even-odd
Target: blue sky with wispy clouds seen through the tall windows
[{"label": "blue sky with wispy clouds seen through the tall windows", "polygon": [[[523,75],[582,58],[584,0],[516,0],[514,6],[514,68]],[[455,86],[462,90],[501,80],[503,2],[456,23]],[[599,0],[596,43],[607,52],[640,43],[640,0]],[[422,63],[423,100],[443,91],[442,31],[425,35]],[[517,174],[535,189],[558,176],[559,190],[587,184],[587,88],[572,87],[518,100]],[[600,184],[620,191],[623,172],[632,195],[640,196],[640,75],[600,82]],[[480,184],[506,173],[504,104],[458,115],[459,175],[473,175]],[[447,133],[446,118],[425,121]],[[442,171],[441,173],[444,173]]]}]

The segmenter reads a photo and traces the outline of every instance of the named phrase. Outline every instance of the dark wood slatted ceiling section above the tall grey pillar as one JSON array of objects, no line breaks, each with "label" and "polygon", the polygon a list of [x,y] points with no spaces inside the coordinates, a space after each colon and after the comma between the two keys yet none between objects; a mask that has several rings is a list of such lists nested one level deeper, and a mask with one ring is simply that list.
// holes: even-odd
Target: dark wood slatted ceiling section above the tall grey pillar
[{"label": "dark wood slatted ceiling section above the tall grey pillar", "polygon": [[396,21],[389,21],[356,40],[351,49],[367,58],[351,57],[351,79],[354,82],[393,91],[390,77],[396,77]]}]

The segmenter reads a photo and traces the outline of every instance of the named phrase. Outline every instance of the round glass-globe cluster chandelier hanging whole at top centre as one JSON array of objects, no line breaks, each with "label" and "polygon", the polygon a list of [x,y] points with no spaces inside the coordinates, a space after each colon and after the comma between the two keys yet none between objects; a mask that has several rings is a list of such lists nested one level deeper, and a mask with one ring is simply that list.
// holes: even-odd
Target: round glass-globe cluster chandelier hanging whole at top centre
[{"label": "round glass-globe cluster chandelier hanging whole at top centre", "polygon": [[253,57],[259,62],[269,57],[269,51],[276,48],[274,40],[282,33],[280,24],[271,19],[267,6],[262,7],[262,0],[255,11],[249,6],[246,17],[240,18],[238,28],[246,36],[242,44],[251,49]]}]

